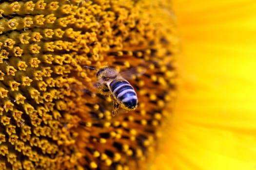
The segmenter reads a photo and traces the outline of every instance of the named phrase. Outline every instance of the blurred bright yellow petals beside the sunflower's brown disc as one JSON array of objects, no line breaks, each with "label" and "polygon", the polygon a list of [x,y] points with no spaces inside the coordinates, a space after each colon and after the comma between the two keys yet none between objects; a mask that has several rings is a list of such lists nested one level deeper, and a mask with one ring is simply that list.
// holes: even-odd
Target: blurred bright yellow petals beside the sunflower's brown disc
[{"label": "blurred bright yellow petals beside the sunflower's brown disc", "polygon": [[174,0],[180,88],[155,169],[256,170],[255,9],[255,0]]}]

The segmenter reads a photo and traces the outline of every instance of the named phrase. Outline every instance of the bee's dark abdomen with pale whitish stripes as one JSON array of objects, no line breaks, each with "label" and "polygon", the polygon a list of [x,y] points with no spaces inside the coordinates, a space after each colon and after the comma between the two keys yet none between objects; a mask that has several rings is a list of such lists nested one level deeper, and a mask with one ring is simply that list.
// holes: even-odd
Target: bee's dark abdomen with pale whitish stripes
[{"label": "bee's dark abdomen with pale whitish stripes", "polygon": [[114,80],[110,83],[110,90],[114,97],[128,109],[135,109],[138,98],[132,85],[124,79]]}]

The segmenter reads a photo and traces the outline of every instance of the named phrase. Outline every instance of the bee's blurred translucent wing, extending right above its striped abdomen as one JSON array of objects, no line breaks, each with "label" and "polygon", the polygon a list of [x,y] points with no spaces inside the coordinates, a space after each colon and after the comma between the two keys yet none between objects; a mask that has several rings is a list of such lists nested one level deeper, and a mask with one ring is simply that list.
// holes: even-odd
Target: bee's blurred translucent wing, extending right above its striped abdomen
[{"label": "bee's blurred translucent wing, extending right above its striped abdomen", "polygon": [[139,77],[140,75],[144,74],[146,72],[146,68],[142,68],[142,67],[133,67],[133,68],[129,68],[127,70],[121,71],[120,75],[124,78],[124,79],[133,79],[135,77]]}]

